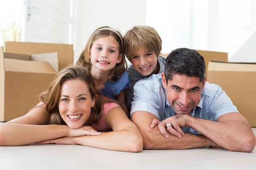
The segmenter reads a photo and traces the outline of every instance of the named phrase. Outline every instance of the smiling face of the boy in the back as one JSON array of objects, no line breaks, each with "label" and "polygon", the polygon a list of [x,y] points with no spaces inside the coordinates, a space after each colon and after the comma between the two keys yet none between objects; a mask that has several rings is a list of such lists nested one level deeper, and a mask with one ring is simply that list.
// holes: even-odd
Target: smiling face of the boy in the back
[{"label": "smiling face of the boy in the back", "polygon": [[137,53],[132,55],[131,63],[133,68],[141,75],[149,76],[159,72],[157,58],[155,52],[139,47]]}]

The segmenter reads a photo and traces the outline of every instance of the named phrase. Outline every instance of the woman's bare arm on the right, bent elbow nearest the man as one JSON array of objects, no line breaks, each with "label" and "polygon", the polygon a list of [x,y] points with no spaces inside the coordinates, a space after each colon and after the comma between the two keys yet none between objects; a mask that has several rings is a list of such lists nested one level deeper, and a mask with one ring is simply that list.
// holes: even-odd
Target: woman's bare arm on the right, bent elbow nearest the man
[{"label": "woman's bare arm on the right, bent elbow nearest the man", "polygon": [[47,143],[80,144],[126,152],[140,152],[143,149],[143,140],[138,128],[126,117],[122,108],[115,107],[109,110],[105,121],[113,131],[102,132],[99,136],[64,137],[49,140]]}]

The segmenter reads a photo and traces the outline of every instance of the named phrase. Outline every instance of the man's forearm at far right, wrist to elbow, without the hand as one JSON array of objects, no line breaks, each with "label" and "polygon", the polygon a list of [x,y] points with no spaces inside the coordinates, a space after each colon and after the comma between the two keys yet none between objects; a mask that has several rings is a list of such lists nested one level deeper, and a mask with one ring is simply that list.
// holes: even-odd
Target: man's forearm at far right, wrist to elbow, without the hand
[{"label": "man's forearm at far right, wrist to elbow, without the hand", "polygon": [[187,126],[228,150],[252,152],[254,149],[254,133],[249,125],[243,121],[210,121],[189,117],[187,123]]}]

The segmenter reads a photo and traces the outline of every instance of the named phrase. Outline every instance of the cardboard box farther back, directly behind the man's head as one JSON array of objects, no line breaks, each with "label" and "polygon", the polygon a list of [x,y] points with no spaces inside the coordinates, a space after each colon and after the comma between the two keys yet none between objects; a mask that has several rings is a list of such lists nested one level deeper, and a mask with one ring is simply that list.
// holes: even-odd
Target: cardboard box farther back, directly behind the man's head
[{"label": "cardboard box farther back, directly behind the man's head", "polygon": [[[205,71],[207,72],[208,68],[208,63],[211,62],[211,60],[220,60],[227,62],[228,61],[228,56],[227,53],[223,52],[217,52],[217,51],[203,51],[203,50],[195,50],[197,51],[200,55],[204,57],[204,62],[205,62]],[[169,53],[164,54],[164,57],[167,57]],[[207,73],[206,73],[207,75]]]}]

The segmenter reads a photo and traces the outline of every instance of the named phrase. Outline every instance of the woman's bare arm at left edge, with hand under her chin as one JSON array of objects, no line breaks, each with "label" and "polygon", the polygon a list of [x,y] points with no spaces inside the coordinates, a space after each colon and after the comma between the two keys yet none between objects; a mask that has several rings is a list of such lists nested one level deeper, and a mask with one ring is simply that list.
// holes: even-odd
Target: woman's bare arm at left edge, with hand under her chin
[{"label": "woman's bare arm at left edge, with hand under her chin", "polygon": [[[64,136],[81,136],[95,130],[70,129],[65,125],[48,125],[49,114],[36,107],[26,115],[0,126],[0,146],[20,146]],[[85,128],[85,127],[83,127]]]}]

